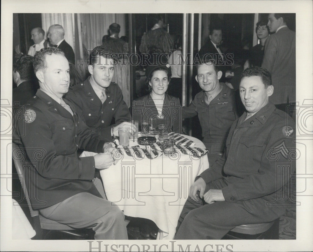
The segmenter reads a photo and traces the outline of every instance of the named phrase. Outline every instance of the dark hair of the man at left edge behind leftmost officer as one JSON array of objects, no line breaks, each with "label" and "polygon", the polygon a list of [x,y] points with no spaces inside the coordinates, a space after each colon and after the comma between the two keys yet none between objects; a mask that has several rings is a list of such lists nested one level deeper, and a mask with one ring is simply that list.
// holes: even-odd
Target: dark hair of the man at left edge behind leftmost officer
[{"label": "dark hair of the man at left edge behind leftmost officer", "polygon": [[22,80],[31,80],[34,77],[33,56],[22,54],[13,64],[14,72],[20,74]]}]

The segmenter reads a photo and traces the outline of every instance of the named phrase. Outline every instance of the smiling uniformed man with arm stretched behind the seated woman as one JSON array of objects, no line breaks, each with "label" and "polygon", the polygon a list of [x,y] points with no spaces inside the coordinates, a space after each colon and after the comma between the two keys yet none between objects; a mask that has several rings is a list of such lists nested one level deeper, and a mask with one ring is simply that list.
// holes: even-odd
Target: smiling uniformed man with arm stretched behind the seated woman
[{"label": "smiling uniformed man with arm stretched behind the seated woman", "polygon": [[224,83],[219,83],[222,71],[208,57],[197,65],[196,81],[203,89],[188,107],[182,108],[182,118],[198,115],[202,128],[203,144],[209,150],[212,165],[224,152],[225,141],[233,121],[237,119],[235,93]]}]

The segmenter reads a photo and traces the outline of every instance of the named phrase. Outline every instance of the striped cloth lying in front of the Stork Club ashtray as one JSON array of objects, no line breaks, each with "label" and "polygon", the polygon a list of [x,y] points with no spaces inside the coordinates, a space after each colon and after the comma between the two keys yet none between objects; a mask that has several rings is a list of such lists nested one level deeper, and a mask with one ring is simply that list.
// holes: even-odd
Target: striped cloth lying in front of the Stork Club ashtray
[{"label": "striped cloth lying in front of the Stork Club ashtray", "polygon": [[137,158],[145,158],[148,159],[155,159],[157,157],[160,157],[163,154],[163,151],[156,150],[156,149],[142,149],[139,147],[139,145],[128,147],[128,146],[122,146],[120,148],[117,148],[117,151],[121,155],[127,155],[130,157],[136,156]]}]

